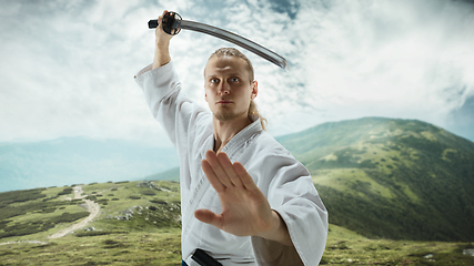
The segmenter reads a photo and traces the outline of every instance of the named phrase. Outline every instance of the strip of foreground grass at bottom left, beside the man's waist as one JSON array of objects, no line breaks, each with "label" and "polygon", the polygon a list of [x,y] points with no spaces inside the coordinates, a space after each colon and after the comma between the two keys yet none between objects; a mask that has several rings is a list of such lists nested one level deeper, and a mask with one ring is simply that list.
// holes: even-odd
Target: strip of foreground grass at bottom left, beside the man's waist
[{"label": "strip of foreground grass at bottom left, beside the man's waist", "polygon": [[0,246],[0,265],[181,265],[181,229],[77,237]]}]

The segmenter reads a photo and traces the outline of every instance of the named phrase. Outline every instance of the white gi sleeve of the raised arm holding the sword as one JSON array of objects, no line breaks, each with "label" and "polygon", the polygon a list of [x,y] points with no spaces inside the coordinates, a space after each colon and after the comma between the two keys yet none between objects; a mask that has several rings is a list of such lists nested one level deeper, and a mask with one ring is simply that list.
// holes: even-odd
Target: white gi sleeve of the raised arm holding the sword
[{"label": "white gi sleeve of the raised arm holding the sword", "polygon": [[135,75],[135,81],[153,117],[164,127],[178,153],[185,152],[188,136],[208,112],[182,92],[172,62],[154,70],[148,65]]}]

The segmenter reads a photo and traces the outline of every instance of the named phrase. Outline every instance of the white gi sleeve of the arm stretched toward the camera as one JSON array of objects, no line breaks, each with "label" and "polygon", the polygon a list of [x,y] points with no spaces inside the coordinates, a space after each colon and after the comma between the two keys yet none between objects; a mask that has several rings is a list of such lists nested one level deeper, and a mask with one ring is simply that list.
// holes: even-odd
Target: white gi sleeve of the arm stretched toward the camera
[{"label": "white gi sleeve of the arm stretched toward the camera", "polygon": [[252,237],[260,266],[317,265],[327,238],[327,211],[307,170],[291,155],[271,155],[262,165],[272,176],[270,206],[285,222],[293,246]]}]

